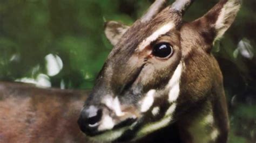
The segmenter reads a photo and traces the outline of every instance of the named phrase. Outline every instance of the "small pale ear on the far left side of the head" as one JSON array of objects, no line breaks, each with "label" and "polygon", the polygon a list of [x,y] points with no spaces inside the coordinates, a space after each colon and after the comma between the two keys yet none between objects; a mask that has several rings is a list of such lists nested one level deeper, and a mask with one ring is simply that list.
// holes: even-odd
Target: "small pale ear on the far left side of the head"
[{"label": "small pale ear on the far left side of the head", "polygon": [[120,40],[122,35],[128,30],[129,26],[126,26],[118,22],[106,22],[105,23],[105,34],[107,39],[114,46]]}]

